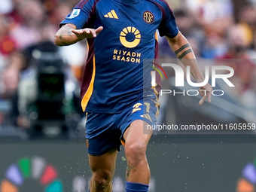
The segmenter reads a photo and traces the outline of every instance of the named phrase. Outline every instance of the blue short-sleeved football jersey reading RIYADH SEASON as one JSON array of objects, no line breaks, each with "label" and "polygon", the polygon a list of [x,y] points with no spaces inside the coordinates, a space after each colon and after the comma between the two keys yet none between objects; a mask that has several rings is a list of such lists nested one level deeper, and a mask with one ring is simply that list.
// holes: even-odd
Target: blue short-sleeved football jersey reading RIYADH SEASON
[{"label": "blue short-sleeved football jersey reading RIYADH SEASON", "polygon": [[82,108],[95,113],[118,113],[141,100],[151,87],[152,68],[143,60],[157,57],[157,29],[161,36],[178,35],[164,0],[82,0],[60,26],[66,23],[78,29],[103,26],[96,38],[87,39],[81,84]]}]

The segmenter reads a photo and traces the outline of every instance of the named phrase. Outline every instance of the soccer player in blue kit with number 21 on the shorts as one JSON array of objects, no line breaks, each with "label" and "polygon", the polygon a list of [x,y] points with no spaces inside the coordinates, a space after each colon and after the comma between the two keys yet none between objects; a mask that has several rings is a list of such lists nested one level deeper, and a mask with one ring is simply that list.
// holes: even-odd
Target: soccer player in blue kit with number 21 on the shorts
[{"label": "soccer player in blue kit with number 21 on the shorts", "polygon": [[[151,134],[143,126],[156,121],[157,89],[151,89],[151,67],[157,58],[157,29],[197,82],[204,77],[193,50],[181,35],[165,0],[82,0],[60,23],[55,43],[75,44],[87,38],[89,55],[81,84],[87,113],[86,137],[92,178],[90,191],[111,192],[117,151],[124,144],[126,191],[148,191],[150,169],[145,155]],[[147,62],[148,66],[153,66]],[[142,77],[143,76],[143,77]],[[159,84],[159,83],[158,83]],[[211,101],[212,87],[200,87]]]}]

